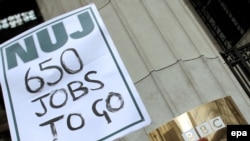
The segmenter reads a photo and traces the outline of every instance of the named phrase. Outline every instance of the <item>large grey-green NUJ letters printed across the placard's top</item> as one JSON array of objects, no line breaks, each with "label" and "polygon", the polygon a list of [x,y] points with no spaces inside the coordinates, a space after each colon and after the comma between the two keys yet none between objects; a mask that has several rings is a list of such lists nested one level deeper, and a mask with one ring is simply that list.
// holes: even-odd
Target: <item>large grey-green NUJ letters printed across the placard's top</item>
[{"label": "large grey-green NUJ letters printed across the placard's top", "polygon": [[[33,36],[24,38],[24,46],[22,46],[19,42],[16,42],[6,47],[5,53],[8,69],[10,70],[18,66],[17,56],[24,63],[38,58],[39,53],[37,52],[37,46],[39,46],[43,52],[49,53],[63,47],[69,38],[80,39],[90,34],[94,29],[94,23],[89,12],[86,11],[81,13],[77,17],[82,29],[79,29],[74,33],[68,33],[63,22],[52,25],[51,28],[54,33],[53,36],[56,40],[55,42],[52,42],[52,35],[49,34],[48,28],[45,28],[38,31]],[[35,44],[34,36],[37,37],[39,45]]]}]

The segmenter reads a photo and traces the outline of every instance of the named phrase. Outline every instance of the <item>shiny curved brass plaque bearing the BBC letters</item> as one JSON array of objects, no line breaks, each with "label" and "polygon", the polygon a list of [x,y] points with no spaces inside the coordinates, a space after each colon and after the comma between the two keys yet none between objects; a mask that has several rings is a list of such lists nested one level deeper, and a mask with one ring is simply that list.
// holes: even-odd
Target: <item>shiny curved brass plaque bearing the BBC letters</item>
[{"label": "shiny curved brass plaque bearing the BBC letters", "polygon": [[[247,121],[232,97],[227,96],[195,107],[149,134],[153,141],[245,141]],[[160,132],[159,132],[160,131]],[[250,128],[249,128],[250,132]],[[249,139],[248,139],[249,140]]]}]

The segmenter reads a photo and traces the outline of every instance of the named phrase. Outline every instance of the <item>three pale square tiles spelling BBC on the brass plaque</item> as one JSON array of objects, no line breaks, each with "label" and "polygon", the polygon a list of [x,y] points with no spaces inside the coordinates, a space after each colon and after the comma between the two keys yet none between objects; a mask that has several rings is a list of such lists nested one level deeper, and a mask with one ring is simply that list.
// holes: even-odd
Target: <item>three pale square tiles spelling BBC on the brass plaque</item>
[{"label": "three pale square tiles spelling BBC on the brass plaque", "polygon": [[208,122],[204,122],[182,134],[185,141],[197,141],[200,137],[206,137],[213,132],[226,127],[221,117],[215,117]]}]

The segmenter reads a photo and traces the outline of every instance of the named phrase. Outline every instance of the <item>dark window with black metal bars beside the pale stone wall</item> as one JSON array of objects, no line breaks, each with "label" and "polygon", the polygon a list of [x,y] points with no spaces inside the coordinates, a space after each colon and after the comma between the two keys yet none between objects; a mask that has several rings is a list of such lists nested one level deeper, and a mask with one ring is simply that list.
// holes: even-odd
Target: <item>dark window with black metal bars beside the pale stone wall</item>
[{"label": "dark window with black metal bars beside the pale stone wall", "polygon": [[250,0],[190,2],[220,45],[225,62],[250,97],[250,42],[236,46],[245,34],[250,34]]}]

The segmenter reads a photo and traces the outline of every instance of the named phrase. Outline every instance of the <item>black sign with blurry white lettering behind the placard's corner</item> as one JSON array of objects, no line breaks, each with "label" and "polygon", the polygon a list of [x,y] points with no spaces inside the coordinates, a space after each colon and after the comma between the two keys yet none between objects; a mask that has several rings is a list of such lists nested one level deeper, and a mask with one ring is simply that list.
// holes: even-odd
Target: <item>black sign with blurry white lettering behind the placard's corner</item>
[{"label": "black sign with blurry white lettering behind the placard's corner", "polygon": [[0,44],[42,22],[35,0],[0,0]]}]

